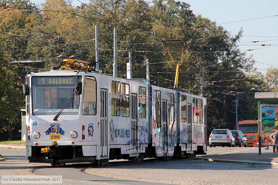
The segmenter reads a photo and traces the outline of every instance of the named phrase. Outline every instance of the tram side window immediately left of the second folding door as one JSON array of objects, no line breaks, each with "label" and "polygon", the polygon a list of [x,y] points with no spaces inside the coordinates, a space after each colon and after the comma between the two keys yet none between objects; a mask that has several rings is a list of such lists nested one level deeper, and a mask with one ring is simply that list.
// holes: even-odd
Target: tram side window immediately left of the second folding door
[{"label": "tram side window immediately left of the second folding door", "polygon": [[129,117],[129,85],[121,84],[121,114]]}]

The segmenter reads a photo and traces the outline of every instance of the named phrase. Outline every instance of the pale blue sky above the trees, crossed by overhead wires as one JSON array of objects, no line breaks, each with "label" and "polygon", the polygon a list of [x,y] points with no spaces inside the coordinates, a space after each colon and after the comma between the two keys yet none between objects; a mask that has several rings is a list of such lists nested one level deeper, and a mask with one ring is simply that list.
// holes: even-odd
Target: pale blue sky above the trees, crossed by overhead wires
[{"label": "pale blue sky above the trees, crossed by overhead wires", "polygon": [[[89,0],[80,0],[88,3]],[[227,23],[239,20],[261,18],[278,15],[277,0],[181,0],[190,4],[193,13],[201,14],[216,23]],[[32,0],[37,5],[44,0]],[[149,1],[150,2],[150,1]],[[73,6],[80,6],[77,0],[72,1]],[[255,49],[246,51],[247,55],[253,55],[256,60],[254,65],[262,74],[266,73],[267,68],[278,67],[278,16],[263,19],[255,19],[236,23],[221,24],[231,34],[237,34],[240,28],[243,29],[241,43],[248,46],[240,46],[241,50]],[[251,43],[252,41],[262,41]],[[250,42],[250,43],[246,43]],[[260,46],[261,44],[271,44],[271,46]],[[276,45],[275,45],[276,44]]]}]

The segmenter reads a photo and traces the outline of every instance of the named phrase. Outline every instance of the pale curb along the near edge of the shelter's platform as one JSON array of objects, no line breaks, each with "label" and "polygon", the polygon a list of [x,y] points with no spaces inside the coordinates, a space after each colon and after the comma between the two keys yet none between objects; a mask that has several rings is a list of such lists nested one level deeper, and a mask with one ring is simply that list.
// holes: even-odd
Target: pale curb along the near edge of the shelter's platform
[{"label": "pale curb along the near edge of the shelter's platform", "polygon": [[241,163],[241,164],[251,164],[251,165],[278,165],[278,162],[229,160],[229,159],[214,159],[214,158],[203,158],[203,157],[195,157],[194,159],[204,160],[204,161],[211,161],[211,162],[230,162],[230,163]]}]

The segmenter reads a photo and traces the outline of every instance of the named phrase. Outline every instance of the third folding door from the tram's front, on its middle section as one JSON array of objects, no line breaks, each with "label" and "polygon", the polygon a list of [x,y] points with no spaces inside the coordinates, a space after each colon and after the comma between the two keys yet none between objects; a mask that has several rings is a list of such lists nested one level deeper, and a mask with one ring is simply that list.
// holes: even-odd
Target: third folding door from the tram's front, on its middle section
[{"label": "third folding door from the tram's front, on its middle section", "polygon": [[162,99],[162,152],[168,152],[167,100]]}]

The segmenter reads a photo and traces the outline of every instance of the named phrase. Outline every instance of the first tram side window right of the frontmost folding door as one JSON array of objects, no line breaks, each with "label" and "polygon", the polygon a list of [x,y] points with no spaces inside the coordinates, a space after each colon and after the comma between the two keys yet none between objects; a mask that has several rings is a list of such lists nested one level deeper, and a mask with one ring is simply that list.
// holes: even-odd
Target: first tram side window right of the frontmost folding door
[{"label": "first tram side window right of the frontmost folding door", "polygon": [[120,116],[120,82],[112,82],[111,100],[111,115]]}]

